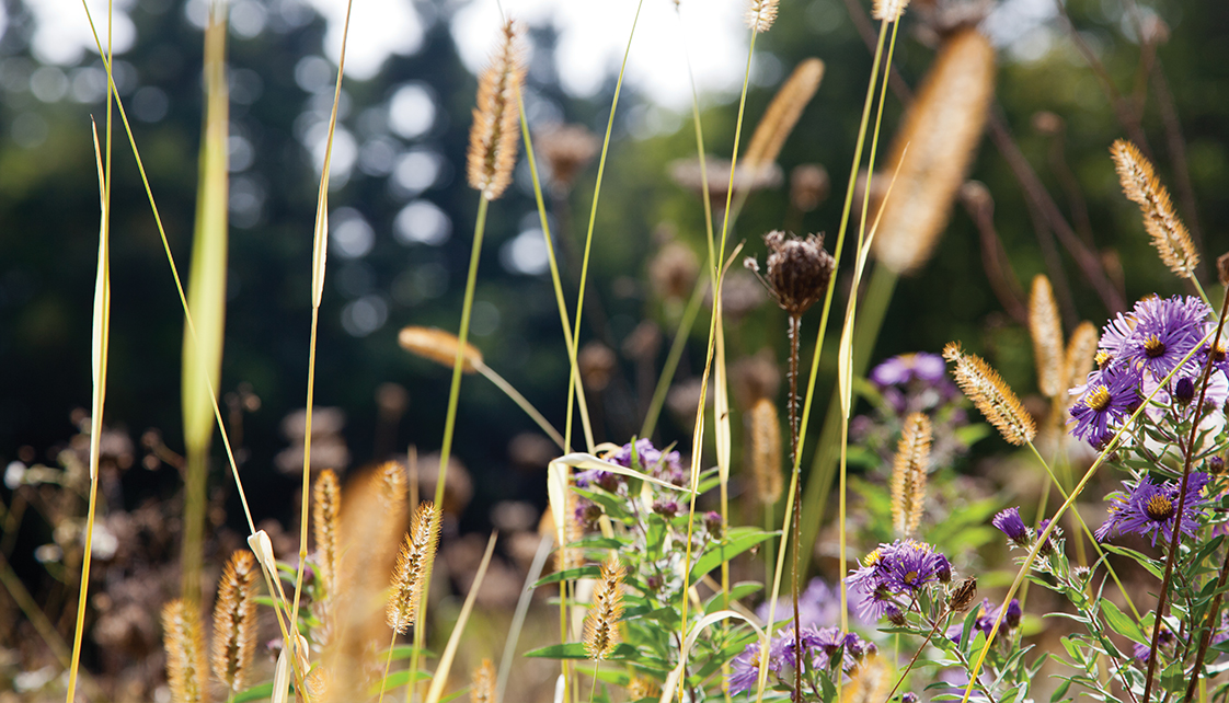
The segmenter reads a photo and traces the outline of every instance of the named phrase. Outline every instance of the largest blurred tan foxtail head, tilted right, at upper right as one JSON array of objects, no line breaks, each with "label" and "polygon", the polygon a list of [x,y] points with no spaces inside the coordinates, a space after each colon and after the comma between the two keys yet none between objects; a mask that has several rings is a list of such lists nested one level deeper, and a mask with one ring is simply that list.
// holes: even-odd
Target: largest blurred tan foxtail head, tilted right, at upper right
[{"label": "largest blurred tan foxtail head, tilted right, at upper right", "polygon": [[981,141],[993,95],[989,41],[973,28],[945,38],[884,163],[887,173],[897,166],[900,171],[882,205],[873,252],[890,270],[907,274],[930,258]]}]

